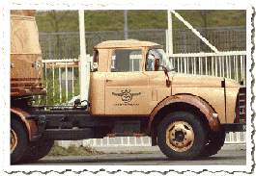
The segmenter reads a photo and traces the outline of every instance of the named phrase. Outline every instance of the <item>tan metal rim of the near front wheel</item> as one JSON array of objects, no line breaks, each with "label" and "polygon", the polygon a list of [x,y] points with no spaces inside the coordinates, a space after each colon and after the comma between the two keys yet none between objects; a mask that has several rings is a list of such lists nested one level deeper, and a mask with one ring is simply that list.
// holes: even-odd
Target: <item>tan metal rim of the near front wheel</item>
[{"label": "tan metal rim of the near front wheel", "polygon": [[166,143],[177,152],[185,152],[193,142],[193,129],[185,121],[175,121],[166,129]]}]

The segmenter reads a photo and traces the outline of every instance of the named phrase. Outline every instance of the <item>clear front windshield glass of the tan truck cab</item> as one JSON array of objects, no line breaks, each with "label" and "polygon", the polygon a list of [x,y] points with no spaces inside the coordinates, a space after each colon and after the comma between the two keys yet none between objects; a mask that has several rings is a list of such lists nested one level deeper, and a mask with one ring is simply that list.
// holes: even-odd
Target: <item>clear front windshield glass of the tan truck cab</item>
[{"label": "clear front windshield glass of the tan truck cab", "polygon": [[[159,59],[159,64],[164,66],[168,71],[174,70],[173,65],[170,63],[167,54],[164,52],[162,48],[152,48],[149,50],[147,54],[146,60],[146,70],[147,71],[155,71],[155,59]],[[159,71],[164,70],[164,68],[160,66]]]}]

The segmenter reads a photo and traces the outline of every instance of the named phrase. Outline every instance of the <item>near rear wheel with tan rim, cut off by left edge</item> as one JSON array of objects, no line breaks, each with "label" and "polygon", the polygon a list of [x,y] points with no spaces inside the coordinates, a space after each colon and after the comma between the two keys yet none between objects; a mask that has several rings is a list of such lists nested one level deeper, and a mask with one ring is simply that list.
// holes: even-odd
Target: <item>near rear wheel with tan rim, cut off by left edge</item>
[{"label": "near rear wheel with tan rim, cut off by left edge", "polygon": [[11,164],[17,163],[27,147],[28,136],[21,122],[11,119]]}]

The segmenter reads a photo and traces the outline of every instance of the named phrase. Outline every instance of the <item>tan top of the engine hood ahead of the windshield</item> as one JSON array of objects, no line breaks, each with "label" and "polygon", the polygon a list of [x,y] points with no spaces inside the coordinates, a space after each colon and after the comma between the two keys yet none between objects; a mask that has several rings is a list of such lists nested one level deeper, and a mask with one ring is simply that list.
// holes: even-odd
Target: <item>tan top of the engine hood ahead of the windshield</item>
[{"label": "tan top of the engine hood ahead of the windshield", "polygon": [[[222,77],[215,77],[209,75],[194,75],[185,73],[172,73],[172,87],[185,87],[185,88],[221,88]],[[225,78],[226,87],[240,87],[240,85],[232,79]]]}]

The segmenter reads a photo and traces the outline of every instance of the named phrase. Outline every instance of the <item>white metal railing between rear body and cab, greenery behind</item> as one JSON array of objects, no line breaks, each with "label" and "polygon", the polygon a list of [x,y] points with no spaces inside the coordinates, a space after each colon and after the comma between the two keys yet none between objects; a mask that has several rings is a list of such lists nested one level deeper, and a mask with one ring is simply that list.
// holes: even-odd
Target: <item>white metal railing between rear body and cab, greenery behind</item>
[{"label": "white metal railing between rear body and cab, greenery behind", "polygon": [[[77,59],[43,61],[43,81],[47,89],[45,104],[67,103],[75,96],[75,84],[79,82],[78,66]],[[79,88],[76,94],[79,94]]]}]

